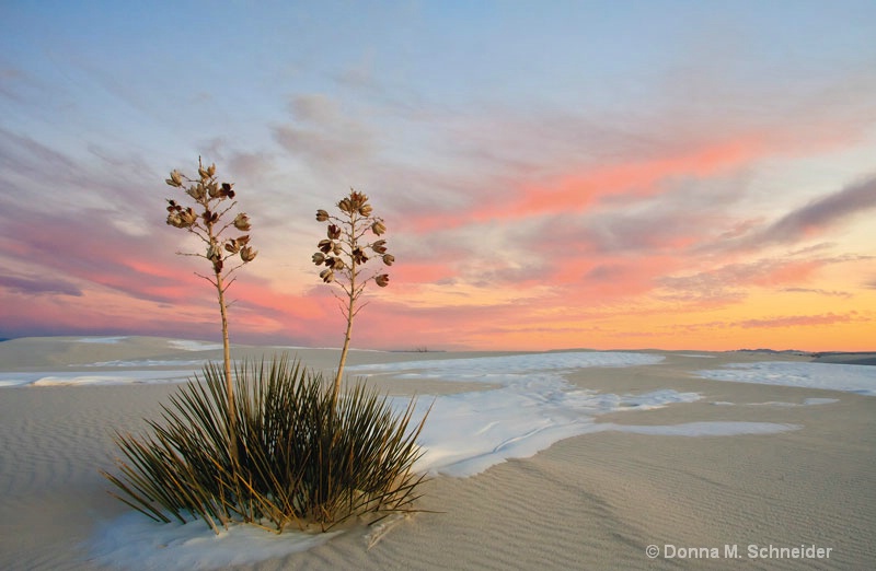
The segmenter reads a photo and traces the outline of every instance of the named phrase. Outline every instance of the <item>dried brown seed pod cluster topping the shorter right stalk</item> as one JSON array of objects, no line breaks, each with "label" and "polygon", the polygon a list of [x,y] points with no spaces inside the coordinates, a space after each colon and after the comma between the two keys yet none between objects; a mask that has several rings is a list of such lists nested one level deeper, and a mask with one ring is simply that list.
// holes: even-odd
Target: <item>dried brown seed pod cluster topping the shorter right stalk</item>
[{"label": "dried brown seed pod cluster topping the shorter right stalk", "polygon": [[[365,282],[356,283],[359,275],[357,267],[371,259],[370,255],[379,256],[385,266],[392,266],[395,257],[387,252],[385,240],[360,243],[369,230],[376,236],[387,232],[383,220],[371,215],[373,209],[368,203],[367,195],[350,190],[349,196],[337,203],[337,208],[342,212],[339,217],[322,209],[316,211],[316,221],[328,222],[328,226],[326,237],[316,244],[319,252],[313,254],[312,260],[316,266],[325,266],[320,272],[320,278],[325,283],[332,283],[338,275],[343,275],[351,291],[358,296]],[[372,279],[381,288],[385,288],[390,282],[387,273],[372,276]]]}]

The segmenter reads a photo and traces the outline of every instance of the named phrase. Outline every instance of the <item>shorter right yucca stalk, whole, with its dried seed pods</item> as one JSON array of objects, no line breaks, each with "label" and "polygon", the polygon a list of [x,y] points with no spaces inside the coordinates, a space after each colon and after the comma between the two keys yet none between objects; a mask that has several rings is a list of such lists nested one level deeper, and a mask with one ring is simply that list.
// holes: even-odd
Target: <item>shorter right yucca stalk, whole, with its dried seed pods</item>
[{"label": "shorter right yucca stalk, whole, with its dried seed pods", "polygon": [[[316,211],[316,221],[325,222],[327,228],[326,237],[316,245],[319,252],[313,254],[313,263],[325,267],[320,272],[320,278],[325,283],[336,284],[344,293],[343,296],[335,293],[347,322],[332,393],[335,403],[349,351],[353,321],[365,306],[361,303],[365,288],[371,281],[380,288],[385,288],[390,282],[389,275],[381,273],[380,270],[367,272],[364,266],[374,257],[382,263],[381,269],[382,266],[392,266],[395,261],[395,257],[387,252],[387,241],[380,238],[387,232],[387,226],[383,219],[373,215],[367,195],[350,188],[349,195],[337,202],[337,215],[326,210]],[[372,236],[378,240],[372,240]]]}]

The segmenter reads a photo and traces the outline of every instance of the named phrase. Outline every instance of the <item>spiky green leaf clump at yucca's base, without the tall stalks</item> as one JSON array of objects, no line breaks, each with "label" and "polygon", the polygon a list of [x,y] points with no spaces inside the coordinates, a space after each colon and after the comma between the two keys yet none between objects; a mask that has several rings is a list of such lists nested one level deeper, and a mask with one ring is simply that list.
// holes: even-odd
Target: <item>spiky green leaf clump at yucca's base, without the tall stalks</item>
[{"label": "spiky green leaf clump at yucca's base, without the tall stalks", "polygon": [[116,498],[158,522],[201,518],[217,533],[230,522],[326,531],[356,515],[413,511],[425,478],[413,471],[425,422],[410,426],[414,399],[399,413],[360,384],[335,401],[322,374],[286,356],[242,363],[234,376],[233,405],[210,363],[204,382],[162,406],[161,421],[147,421],[151,435],[116,434],[122,474],[102,471]]}]

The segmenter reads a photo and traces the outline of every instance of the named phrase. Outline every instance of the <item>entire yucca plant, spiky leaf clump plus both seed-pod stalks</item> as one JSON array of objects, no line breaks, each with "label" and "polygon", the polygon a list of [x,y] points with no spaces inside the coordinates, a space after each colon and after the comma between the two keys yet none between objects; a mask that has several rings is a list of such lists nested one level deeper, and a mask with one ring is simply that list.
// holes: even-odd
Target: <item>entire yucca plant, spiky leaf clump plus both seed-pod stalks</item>
[{"label": "entire yucca plant, spiky leaf clump plus both seed-pod stalks", "polygon": [[[425,416],[411,426],[414,399],[399,413],[387,396],[364,384],[339,395],[362,288],[370,280],[381,287],[388,282],[385,275],[359,276],[360,265],[368,259],[364,248],[381,255],[385,265],[393,261],[384,241],[362,240],[366,231],[377,235],[385,231],[382,221],[370,215],[368,198],[351,191],[339,203],[348,215],[345,230],[330,226],[335,261],[326,266],[348,279],[345,291],[349,295],[335,383],[324,382],[321,373],[286,356],[243,362],[232,373],[224,293],[233,282],[230,275],[256,253],[249,234],[224,235],[250,230],[245,213],[223,222],[235,206],[226,202],[234,198],[232,185],[220,185],[216,166],[205,168],[200,161],[198,175],[191,179],[177,171],[171,173],[166,183],[185,189],[200,211],[168,200],[168,224],[205,243],[205,253],[187,255],[211,265],[212,275],[200,277],[217,291],[223,363],[206,364],[203,378],[195,376],[182,385],[170,405],[162,405],[161,419],[147,420],[147,433],[116,433],[120,474],[101,473],[115,486],[113,496],[158,522],[201,518],[216,533],[231,522],[277,533],[310,523],[326,531],[356,515],[413,511],[417,487],[425,478],[413,471],[422,454],[416,439]],[[334,242],[342,236],[346,242]],[[348,273],[338,257],[343,252],[353,256]],[[237,261],[231,259],[235,256],[240,257]]]}]

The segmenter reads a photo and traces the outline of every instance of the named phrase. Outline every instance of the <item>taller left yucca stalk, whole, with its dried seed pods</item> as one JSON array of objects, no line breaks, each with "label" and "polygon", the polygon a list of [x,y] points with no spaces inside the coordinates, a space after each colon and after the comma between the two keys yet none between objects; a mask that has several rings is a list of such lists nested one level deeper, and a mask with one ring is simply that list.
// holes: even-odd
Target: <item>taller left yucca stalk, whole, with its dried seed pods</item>
[{"label": "taller left yucca stalk, whole, with its dried seed pods", "polygon": [[[176,200],[168,199],[168,224],[185,230],[204,242],[204,248],[197,253],[180,252],[183,256],[196,256],[209,261],[211,275],[197,273],[216,289],[219,301],[219,313],[222,317],[222,359],[224,370],[226,393],[228,407],[228,440],[229,452],[234,464],[238,458],[238,434],[234,415],[234,384],[231,377],[231,351],[228,341],[228,304],[226,291],[234,282],[231,275],[239,268],[249,264],[257,254],[250,245],[250,235],[245,234],[251,229],[250,218],[245,212],[240,212],[231,219],[231,211],[237,207],[232,183],[219,183],[216,178],[216,164],[205,167],[198,158],[198,177],[188,176],[174,170],[170,178],[164,180],[168,185],[182,188],[194,200],[195,208],[182,206]],[[231,232],[244,232],[235,237]]]}]

